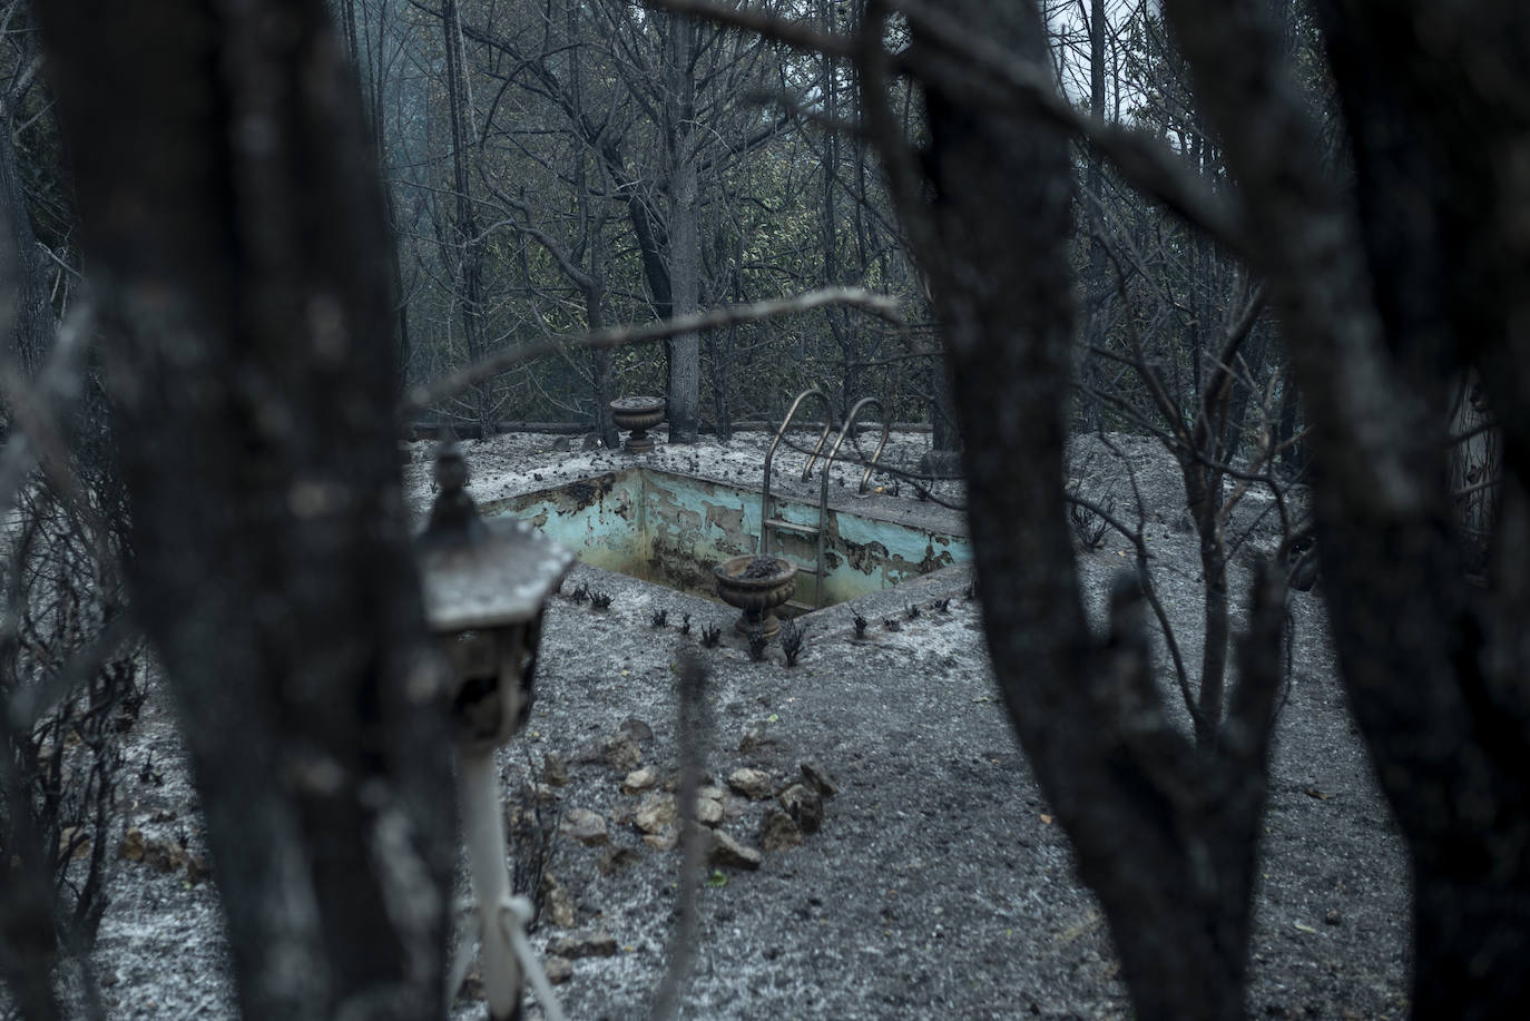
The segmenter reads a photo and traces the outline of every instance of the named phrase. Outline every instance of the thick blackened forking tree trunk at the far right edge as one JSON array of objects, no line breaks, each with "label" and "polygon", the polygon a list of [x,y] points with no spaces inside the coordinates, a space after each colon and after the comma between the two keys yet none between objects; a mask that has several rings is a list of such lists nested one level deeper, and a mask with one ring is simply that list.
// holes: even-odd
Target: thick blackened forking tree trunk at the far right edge
[{"label": "thick blackened forking tree trunk at the far right edge", "polygon": [[[1530,11],[1331,0],[1356,191],[1252,0],[1169,0],[1285,320],[1307,419],[1320,560],[1351,707],[1414,859],[1414,1016],[1530,1003],[1530,470],[1519,73]],[[1496,69],[1507,77],[1495,77]],[[1484,77],[1487,72],[1487,77]],[[1475,361],[1502,415],[1506,524],[1486,591],[1454,543],[1449,387]],[[1516,524],[1518,522],[1518,524]]]}]

